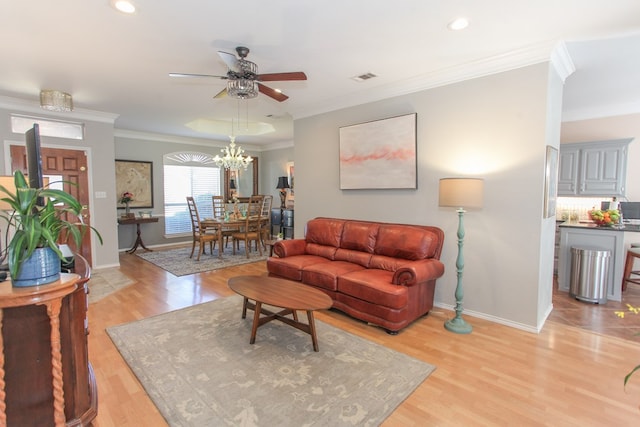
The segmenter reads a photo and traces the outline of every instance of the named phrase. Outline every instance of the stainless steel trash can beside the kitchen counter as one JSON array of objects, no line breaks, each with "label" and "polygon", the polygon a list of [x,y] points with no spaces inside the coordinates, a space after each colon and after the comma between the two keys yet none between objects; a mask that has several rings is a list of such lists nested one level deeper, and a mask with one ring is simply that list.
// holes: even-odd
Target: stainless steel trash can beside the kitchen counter
[{"label": "stainless steel trash can beside the kitchen counter", "polygon": [[606,303],[610,259],[611,251],[572,247],[569,295],[580,301]]}]

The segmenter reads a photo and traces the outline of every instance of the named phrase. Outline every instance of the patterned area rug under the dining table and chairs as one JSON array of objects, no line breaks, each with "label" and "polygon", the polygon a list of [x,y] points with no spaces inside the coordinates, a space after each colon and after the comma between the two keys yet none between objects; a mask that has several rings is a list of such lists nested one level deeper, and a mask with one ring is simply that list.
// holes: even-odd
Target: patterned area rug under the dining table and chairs
[{"label": "patterned area rug under the dining table and chairs", "polygon": [[[197,247],[196,250],[198,250]],[[207,250],[209,250],[209,248],[207,248]],[[187,274],[202,273],[203,271],[219,270],[234,265],[267,259],[266,251],[262,251],[262,256],[255,251],[249,252],[249,258],[247,258],[244,247],[240,247],[239,251],[236,250],[235,255],[232,254],[231,248],[227,248],[223,252],[222,258],[218,258],[218,250],[214,249],[213,255],[206,253],[200,256],[200,261],[196,261],[197,254],[194,254],[193,258],[189,258],[190,253],[191,246],[153,252],[136,252],[136,255],[145,261],[149,261],[167,270],[175,276],[186,276]]]}]

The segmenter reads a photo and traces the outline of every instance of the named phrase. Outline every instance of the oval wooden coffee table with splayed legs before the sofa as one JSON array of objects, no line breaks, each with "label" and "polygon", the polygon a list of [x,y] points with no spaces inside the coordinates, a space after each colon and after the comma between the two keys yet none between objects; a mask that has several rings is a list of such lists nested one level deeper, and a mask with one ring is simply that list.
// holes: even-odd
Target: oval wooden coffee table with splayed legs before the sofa
[{"label": "oval wooden coffee table with splayed legs before the sofa", "polygon": [[[313,320],[313,311],[331,308],[333,301],[327,294],[311,286],[268,276],[232,277],[228,283],[235,293],[244,297],[242,318],[247,317],[247,309],[254,311],[250,344],[256,342],[256,331],[259,326],[277,319],[311,335],[313,350],[318,351],[318,338]],[[255,303],[250,300],[255,301]],[[273,313],[264,309],[262,304],[283,308],[283,310]],[[308,323],[298,321],[296,310],[307,312]],[[265,316],[260,317],[260,314]],[[289,314],[293,315],[293,319],[285,317]]]}]

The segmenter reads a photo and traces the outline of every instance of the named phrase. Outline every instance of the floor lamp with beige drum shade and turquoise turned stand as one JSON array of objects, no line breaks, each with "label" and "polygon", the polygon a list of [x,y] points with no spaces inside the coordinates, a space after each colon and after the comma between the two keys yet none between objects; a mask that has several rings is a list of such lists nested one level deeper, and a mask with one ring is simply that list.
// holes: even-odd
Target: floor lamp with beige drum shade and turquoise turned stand
[{"label": "floor lamp with beige drum shade and turquoise turned stand", "polygon": [[458,284],[456,285],[456,316],[444,322],[446,330],[457,334],[469,334],[470,324],[462,318],[462,301],[464,289],[462,287],[462,273],[464,271],[464,208],[482,208],[483,180],[477,178],[442,178],[440,180],[439,205],[458,208],[458,258],[456,270]]}]

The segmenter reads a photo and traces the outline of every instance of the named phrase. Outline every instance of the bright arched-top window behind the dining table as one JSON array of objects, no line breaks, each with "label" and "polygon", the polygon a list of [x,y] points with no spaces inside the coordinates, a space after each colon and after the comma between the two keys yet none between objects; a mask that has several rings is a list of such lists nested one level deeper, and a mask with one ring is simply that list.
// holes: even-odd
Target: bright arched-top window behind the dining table
[{"label": "bright arched-top window behind the dining table", "polygon": [[213,216],[212,196],[221,194],[220,168],[202,153],[164,156],[165,234],[191,233],[187,196],[195,199],[200,217]]}]

